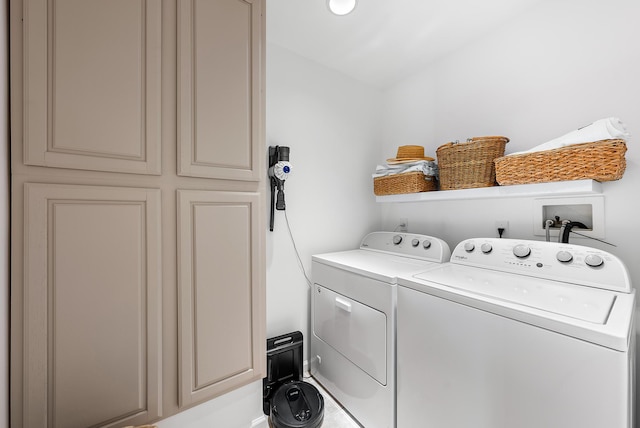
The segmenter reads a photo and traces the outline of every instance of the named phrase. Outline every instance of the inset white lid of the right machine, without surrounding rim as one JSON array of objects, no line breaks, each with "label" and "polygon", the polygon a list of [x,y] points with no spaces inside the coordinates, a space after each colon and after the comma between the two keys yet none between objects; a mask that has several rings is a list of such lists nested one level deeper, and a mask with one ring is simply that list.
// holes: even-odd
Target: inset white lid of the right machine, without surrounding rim
[{"label": "inset white lid of the right machine, without surrounding rim", "polygon": [[604,290],[453,264],[415,278],[597,324],[615,300]]}]

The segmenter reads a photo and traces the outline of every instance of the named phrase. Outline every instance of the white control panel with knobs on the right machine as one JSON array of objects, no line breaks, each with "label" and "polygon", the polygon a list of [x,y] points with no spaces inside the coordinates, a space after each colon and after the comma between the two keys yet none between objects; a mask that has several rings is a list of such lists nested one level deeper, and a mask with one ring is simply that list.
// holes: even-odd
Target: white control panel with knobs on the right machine
[{"label": "white control panel with knobs on the right machine", "polygon": [[631,292],[629,273],[619,258],[582,245],[473,238],[456,246],[451,263]]}]

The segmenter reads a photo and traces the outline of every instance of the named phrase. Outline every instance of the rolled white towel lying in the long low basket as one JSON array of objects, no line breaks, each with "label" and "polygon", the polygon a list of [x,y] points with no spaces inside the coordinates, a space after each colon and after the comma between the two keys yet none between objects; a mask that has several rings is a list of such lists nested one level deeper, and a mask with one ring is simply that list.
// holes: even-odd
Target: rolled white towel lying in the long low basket
[{"label": "rolled white towel lying in the long low basket", "polygon": [[544,144],[540,144],[532,149],[523,152],[510,153],[507,156],[519,155],[523,153],[541,152],[543,150],[557,149],[572,144],[590,143],[600,140],[611,140],[628,137],[627,127],[617,117],[608,117],[593,122],[575,131],[571,131],[562,137],[553,139]]}]

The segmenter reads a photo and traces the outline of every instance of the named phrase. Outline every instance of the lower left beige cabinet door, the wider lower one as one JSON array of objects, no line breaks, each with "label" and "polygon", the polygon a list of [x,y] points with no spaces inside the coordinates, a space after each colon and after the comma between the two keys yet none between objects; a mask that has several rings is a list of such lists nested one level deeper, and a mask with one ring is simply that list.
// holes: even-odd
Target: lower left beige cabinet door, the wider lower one
[{"label": "lower left beige cabinet door, the wider lower one", "polygon": [[25,184],[23,426],[161,414],[160,192]]}]

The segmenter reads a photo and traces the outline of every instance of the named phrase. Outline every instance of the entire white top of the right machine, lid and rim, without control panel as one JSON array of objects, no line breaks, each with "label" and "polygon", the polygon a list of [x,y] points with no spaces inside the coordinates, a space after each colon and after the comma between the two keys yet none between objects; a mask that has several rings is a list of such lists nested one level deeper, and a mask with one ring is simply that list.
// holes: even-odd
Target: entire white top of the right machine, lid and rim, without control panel
[{"label": "entire white top of the right machine, lid and rim, without control panel", "polygon": [[631,345],[634,291],[600,290],[453,263],[400,276],[398,285],[617,351],[627,352]]}]

